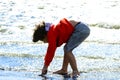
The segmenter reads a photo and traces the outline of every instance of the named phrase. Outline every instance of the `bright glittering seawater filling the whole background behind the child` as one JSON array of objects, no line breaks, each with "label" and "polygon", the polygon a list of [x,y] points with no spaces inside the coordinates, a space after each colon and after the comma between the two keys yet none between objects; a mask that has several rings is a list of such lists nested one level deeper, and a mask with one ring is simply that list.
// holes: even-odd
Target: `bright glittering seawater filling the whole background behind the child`
[{"label": "bright glittering seawater filling the whole background behind the child", "polygon": [[[0,70],[41,71],[48,44],[32,42],[34,25],[41,20],[56,24],[66,17],[91,29],[73,51],[79,70],[119,72],[119,8],[119,0],[0,0]],[[56,50],[50,71],[61,68],[63,46]]]}]

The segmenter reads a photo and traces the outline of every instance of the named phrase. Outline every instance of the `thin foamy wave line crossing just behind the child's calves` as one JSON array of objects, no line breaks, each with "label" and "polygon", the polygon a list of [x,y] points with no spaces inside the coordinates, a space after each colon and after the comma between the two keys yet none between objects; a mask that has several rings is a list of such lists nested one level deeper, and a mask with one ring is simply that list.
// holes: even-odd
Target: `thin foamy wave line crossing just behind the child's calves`
[{"label": "thin foamy wave line crossing just behind the child's calves", "polygon": [[[2,57],[19,57],[19,58],[43,58],[44,55],[39,55],[39,54],[29,54],[29,53],[0,53],[0,56]],[[60,56],[60,55],[56,55],[55,58],[63,58],[63,56]],[[94,60],[105,60],[105,59],[108,59],[109,57],[103,57],[103,56],[85,56],[85,55],[79,55],[79,56],[76,56],[76,58],[86,58],[86,59],[94,59]],[[114,61],[120,61],[119,58],[110,58]]]}]

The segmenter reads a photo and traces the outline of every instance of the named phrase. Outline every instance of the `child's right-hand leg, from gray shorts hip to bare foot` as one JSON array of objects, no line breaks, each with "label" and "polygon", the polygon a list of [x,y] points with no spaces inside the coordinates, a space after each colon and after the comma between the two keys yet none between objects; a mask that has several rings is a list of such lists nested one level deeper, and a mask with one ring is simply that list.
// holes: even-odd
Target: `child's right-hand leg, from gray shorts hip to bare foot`
[{"label": "child's right-hand leg, from gray shorts hip to bare foot", "polygon": [[74,48],[79,46],[90,34],[90,29],[83,23],[79,23],[76,27],[74,32],[72,33],[71,37],[69,38],[68,42],[66,43],[64,49],[66,53],[66,57],[68,58],[68,62],[70,63],[73,76],[79,75],[77,69],[77,63],[75,60],[75,56],[73,55],[72,51]]}]

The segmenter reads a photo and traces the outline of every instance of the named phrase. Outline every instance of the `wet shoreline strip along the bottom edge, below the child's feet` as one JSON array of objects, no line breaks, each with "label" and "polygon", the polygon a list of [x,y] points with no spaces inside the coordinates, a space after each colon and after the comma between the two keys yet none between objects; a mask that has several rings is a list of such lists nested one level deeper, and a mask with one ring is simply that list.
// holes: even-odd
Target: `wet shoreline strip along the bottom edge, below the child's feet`
[{"label": "wet shoreline strip along the bottom edge, below the child's feet", "polygon": [[[0,70],[0,80],[44,80],[43,77],[38,76],[40,72],[29,72],[29,71],[3,71]],[[120,79],[120,71],[118,72],[83,72],[76,80],[119,80]],[[48,78],[54,80],[64,80],[63,77],[48,73]],[[49,79],[45,79],[49,80]],[[65,79],[69,80],[69,79]],[[71,79],[70,79],[71,80]]]}]

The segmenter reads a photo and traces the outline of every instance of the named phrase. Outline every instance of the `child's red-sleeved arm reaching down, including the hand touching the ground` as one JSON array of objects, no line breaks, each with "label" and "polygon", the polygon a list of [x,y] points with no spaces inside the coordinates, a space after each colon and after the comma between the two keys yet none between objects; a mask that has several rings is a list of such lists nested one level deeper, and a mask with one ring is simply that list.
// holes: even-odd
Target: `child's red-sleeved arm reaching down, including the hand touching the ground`
[{"label": "child's red-sleeved arm reaching down, including the hand touching the ground", "polygon": [[53,33],[53,28],[51,28],[48,32],[48,35],[47,35],[47,38],[48,38],[48,48],[47,48],[47,52],[46,52],[46,55],[45,55],[45,62],[44,62],[44,67],[42,69],[42,73],[47,73],[47,68],[50,64],[50,62],[52,61],[53,57],[54,57],[54,54],[55,54],[55,50],[57,48],[56,46],[56,34]]}]

